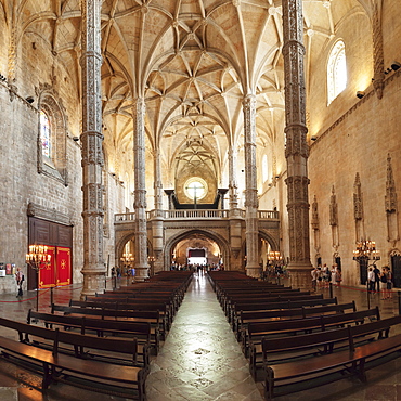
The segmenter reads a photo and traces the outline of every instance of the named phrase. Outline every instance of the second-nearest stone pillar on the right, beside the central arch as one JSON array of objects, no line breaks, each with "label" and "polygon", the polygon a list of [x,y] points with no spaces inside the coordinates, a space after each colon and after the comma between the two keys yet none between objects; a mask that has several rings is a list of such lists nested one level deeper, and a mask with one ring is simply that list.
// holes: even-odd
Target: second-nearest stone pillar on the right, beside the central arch
[{"label": "second-nearest stone pillar on the right, beside the central arch", "polygon": [[258,261],[259,222],[258,190],[256,177],[256,96],[244,98],[244,142],[245,142],[245,237],[246,237],[246,274],[260,277]]}]

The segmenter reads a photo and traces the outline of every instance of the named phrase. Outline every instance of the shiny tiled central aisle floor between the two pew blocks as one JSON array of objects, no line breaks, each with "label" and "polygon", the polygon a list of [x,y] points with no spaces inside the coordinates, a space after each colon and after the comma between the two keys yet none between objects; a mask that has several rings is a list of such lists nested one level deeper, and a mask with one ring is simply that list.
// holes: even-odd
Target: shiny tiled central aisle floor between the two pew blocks
[{"label": "shiny tiled central aisle floor between the two pew blocks", "polygon": [[194,276],[147,378],[150,400],[262,400],[205,275]]}]

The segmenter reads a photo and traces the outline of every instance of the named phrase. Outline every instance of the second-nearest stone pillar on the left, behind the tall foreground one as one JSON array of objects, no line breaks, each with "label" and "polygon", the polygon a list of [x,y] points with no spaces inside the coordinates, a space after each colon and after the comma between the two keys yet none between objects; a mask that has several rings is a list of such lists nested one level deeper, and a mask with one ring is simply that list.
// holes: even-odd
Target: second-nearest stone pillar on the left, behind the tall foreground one
[{"label": "second-nearest stone pillar on the left, behind the tall foreground one", "polygon": [[143,98],[138,98],[133,103],[135,281],[148,279],[145,186],[145,100]]}]

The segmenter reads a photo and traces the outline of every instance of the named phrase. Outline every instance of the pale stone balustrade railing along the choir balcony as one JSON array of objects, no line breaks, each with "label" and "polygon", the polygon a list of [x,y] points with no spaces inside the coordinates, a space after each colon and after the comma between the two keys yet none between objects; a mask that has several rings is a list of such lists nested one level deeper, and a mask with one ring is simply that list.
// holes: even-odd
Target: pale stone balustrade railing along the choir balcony
[{"label": "pale stone balustrade railing along the choir balcony", "polygon": [[[235,209],[235,217],[245,219],[245,210]],[[150,210],[146,211],[146,219],[163,218],[168,219],[229,219],[231,217],[229,209],[181,209],[181,210]],[[276,210],[258,210],[258,218],[260,220],[279,220],[279,211]],[[114,221],[133,222],[135,214],[116,214]]]}]

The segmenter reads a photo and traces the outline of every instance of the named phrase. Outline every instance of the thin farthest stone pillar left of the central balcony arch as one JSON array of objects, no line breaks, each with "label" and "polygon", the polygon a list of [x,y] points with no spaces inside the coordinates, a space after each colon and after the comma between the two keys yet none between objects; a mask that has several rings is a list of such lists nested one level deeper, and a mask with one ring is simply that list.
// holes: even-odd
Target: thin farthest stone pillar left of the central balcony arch
[{"label": "thin farthest stone pillar left of the central balcony arch", "polygon": [[160,167],[160,150],[158,148],[154,154],[154,170],[155,170],[155,212],[152,219],[152,241],[154,251],[154,272],[165,270],[164,266],[164,237],[163,237],[163,182],[161,182],[161,167]]}]

